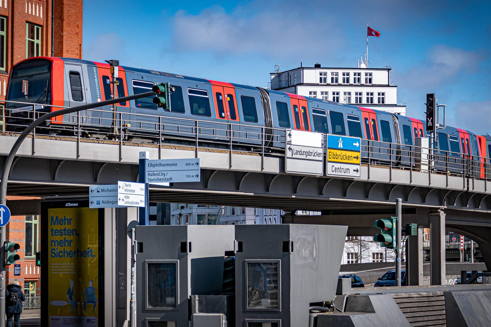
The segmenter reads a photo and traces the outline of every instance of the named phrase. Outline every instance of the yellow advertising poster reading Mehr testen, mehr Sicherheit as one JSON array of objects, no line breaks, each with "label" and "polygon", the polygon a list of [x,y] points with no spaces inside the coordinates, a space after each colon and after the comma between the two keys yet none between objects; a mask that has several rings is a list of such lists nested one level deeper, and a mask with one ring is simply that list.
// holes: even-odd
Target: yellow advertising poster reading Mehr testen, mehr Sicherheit
[{"label": "yellow advertising poster reading Mehr testen, mehr Sicherheit", "polygon": [[98,210],[48,209],[48,317],[50,327],[97,327],[99,308]]}]

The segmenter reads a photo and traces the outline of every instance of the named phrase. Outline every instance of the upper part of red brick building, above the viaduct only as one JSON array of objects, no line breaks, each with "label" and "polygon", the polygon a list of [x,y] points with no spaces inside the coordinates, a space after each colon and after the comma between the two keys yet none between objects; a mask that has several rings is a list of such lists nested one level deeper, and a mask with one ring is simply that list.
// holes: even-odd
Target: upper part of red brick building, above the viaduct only
[{"label": "upper part of red brick building, above the viaduct only", "polygon": [[[34,56],[82,59],[82,20],[82,0],[0,0],[0,101],[17,62]],[[0,109],[0,131],[3,115]]]}]

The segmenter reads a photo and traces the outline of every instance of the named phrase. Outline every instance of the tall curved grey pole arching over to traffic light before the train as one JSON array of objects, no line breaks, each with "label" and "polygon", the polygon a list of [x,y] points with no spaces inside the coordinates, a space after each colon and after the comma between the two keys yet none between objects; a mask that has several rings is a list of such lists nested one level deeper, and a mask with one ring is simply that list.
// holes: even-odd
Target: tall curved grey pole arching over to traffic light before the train
[{"label": "tall curved grey pole arching over to traffic light before the train", "polygon": [[[42,115],[41,117],[39,117],[38,119],[36,119],[35,121],[33,121],[29,126],[26,127],[26,129],[21,133],[21,135],[19,135],[14,145],[12,146],[12,149],[10,149],[7,158],[5,159],[5,164],[3,166],[3,171],[0,180],[0,204],[3,205],[7,204],[7,180],[8,180],[8,176],[10,175],[10,169],[12,168],[12,164],[14,163],[15,154],[21,147],[21,144],[24,141],[24,139],[27,137],[27,135],[29,135],[29,133],[34,128],[36,128],[40,124],[46,122],[48,119],[53,118],[55,116],[71,114],[73,112],[78,112],[81,110],[87,110],[87,109],[102,107],[104,105],[110,105],[113,103],[151,97],[154,95],[156,95],[156,92],[151,91],[151,92],[140,93],[128,97],[122,97],[119,99],[111,99],[101,102],[83,104],[76,107],[48,112]],[[5,327],[5,249],[3,244],[7,240],[5,235],[6,232],[7,232],[7,228],[5,226],[2,226],[0,228],[0,245],[2,246],[2,249],[0,251],[0,261],[1,261],[0,262],[0,275],[1,275],[0,276],[0,327]]]}]

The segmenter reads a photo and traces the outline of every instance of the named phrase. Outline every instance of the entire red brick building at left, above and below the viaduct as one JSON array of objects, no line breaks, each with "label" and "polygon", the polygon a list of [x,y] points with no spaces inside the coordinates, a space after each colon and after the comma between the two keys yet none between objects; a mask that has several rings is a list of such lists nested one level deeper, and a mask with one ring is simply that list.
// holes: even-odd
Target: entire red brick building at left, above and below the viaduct
[{"label": "entire red brick building at left, above and below the viaduct", "polygon": [[[0,0],[0,101],[7,92],[8,73],[17,62],[34,56],[82,58],[82,0]],[[0,103],[0,131],[3,130],[3,104]],[[7,197],[8,201],[28,200]],[[20,275],[15,265],[6,267],[7,284],[12,279],[24,284],[26,295],[39,294],[40,269],[35,264],[39,247],[39,214],[13,216],[6,239],[19,243]],[[18,272],[17,272],[18,273]]]}]

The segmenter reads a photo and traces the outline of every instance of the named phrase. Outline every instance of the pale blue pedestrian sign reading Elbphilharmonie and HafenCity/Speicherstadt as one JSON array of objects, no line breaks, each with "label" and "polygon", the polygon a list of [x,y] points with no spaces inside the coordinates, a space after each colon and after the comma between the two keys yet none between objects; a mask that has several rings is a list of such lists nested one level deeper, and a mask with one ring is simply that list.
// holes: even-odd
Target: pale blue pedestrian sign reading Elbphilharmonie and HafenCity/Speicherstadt
[{"label": "pale blue pedestrian sign reading Elbphilharmonie and HafenCity/Speicherstadt", "polygon": [[146,160],[145,183],[168,185],[167,183],[199,182],[201,173],[198,159]]}]

